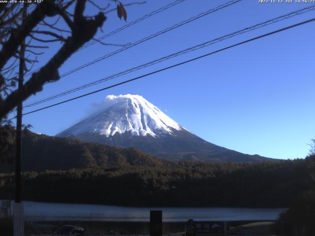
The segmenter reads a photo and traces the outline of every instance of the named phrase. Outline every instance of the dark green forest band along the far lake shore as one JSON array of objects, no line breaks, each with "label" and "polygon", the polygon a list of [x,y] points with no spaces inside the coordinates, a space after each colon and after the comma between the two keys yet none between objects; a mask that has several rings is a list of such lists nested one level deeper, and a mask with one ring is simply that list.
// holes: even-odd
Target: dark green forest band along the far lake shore
[{"label": "dark green forest band along the far lake shore", "polygon": [[[315,156],[260,163],[165,162],[158,166],[25,172],[24,200],[125,206],[289,207],[315,190]],[[12,198],[14,175],[0,175]]]}]

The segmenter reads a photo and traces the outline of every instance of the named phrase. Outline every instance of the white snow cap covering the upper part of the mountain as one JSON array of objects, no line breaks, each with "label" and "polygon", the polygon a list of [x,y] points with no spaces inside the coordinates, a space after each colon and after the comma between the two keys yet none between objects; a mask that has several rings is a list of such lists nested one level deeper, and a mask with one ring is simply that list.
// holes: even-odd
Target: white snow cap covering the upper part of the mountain
[{"label": "white snow cap covering the upper part of the mountain", "polygon": [[58,136],[97,133],[108,137],[131,132],[132,135],[156,137],[159,134],[172,134],[172,129],[184,128],[142,96],[108,95],[98,112]]}]

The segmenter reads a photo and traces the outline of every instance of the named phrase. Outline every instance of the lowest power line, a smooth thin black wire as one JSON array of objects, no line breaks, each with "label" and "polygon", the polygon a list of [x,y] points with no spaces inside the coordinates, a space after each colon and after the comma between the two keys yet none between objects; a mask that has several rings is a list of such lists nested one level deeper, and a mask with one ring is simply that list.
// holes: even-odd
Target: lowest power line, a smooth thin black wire
[{"label": "lowest power line, a smooth thin black wire", "polygon": [[144,74],[144,75],[135,77],[135,78],[130,79],[130,80],[126,80],[126,81],[124,81],[124,82],[121,82],[121,83],[118,83],[118,84],[115,84],[115,85],[112,85],[112,86],[105,87],[105,88],[103,88],[103,89],[98,89],[98,90],[95,90],[95,91],[93,91],[93,92],[85,93],[85,94],[83,94],[83,95],[76,96],[76,97],[73,97],[73,98],[71,98],[71,99],[67,99],[67,100],[64,100],[64,101],[62,101],[62,102],[58,102],[58,103],[52,104],[52,105],[50,105],[50,106],[46,106],[46,107],[43,107],[43,108],[40,108],[40,109],[37,109],[37,110],[33,110],[33,111],[31,111],[31,112],[27,112],[27,113],[23,114],[23,116],[28,115],[28,114],[32,114],[32,113],[34,113],[34,112],[38,112],[38,111],[41,111],[41,110],[44,110],[44,109],[47,109],[47,108],[50,108],[50,107],[54,107],[54,106],[57,106],[57,105],[60,105],[60,104],[63,104],[63,103],[69,102],[69,101],[73,101],[73,100],[76,100],[76,99],[78,99],[78,98],[81,98],[81,97],[85,97],[85,96],[94,94],[94,93],[96,93],[96,92],[100,92],[100,91],[103,91],[103,90],[111,89],[111,88],[117,87],[117,86],[119,86],[119,85],[123,85],[123,84],[129,83],[129,82],[132,82],[132,81],[135,81],[135,80],[138,80],[138,79],[147,77],[147,76],[149,76],[149,75],[153,75],[153,74],[156,74],[156,73],[158,73],[158,72],[161,72],[161,71],[164,71],[164,70],[168,70],[168,69],[177,67],[177,66],[179,66],[179,65],[183,65],[183,64],[186,64],[186,63],[188,63],[188,62],[191,62],[191,61],[194,61],[194,60],[197,60],[197,59],[201,59],[201,58],[204,58],[204,57],[207,57],[207,56],[210,56],[210,55],[219,53],[219,52],[221,52],[221,51],[224,51],[224,50],[227,50],[227,49],[230,49],[230,48],[233,48],[233,47],[236,47],[236,46],[239,46],[239,45],[242,45],[242,44],[245,44],[245,43],[254,41],[254,40],[257,40],[257,39],[259,39],[259,38],[263,38],[263,37],[266,37],[266,36],[269,36],[269,35],[272,35],[272,34],[275,34],[275,33],[278,33],[278,32],[284,31],[284,30],[287,30],[287,29],[291,29],[291,28],[294,28],[294,27],[298,27],[298,26],[301,26],[301,25],[304,25],[304,24],[307,24],[307,23],[310,23],[310,22],[313,22],[313,21],[315,21],[315,18],[312,18],[312,19],[310,19],[310,20],[303,21],[303,22],[300,22],[300,23],[297,23],[297,24],[294,24],[294,25],[291,25],[291,26],[288,26],[288,27],[285,27],[285,28],[282,28],[282,29],[278,29],[278,30],[275,30],[275,31],[272,31],[272,32],[269,32],[269,33],[265,33],[265,34],[259,35],[259,36],[257,36],[257,37],[254,37],[254,38],[251,38],[251,39],[242,41],[242,42],[240,42],[240,43],[233,44],[233,45],[231,45],[231,46],[228,46],[228,47],[219,49],[219,50],[217,50],[217,51],[214,51],[214,52],[211,52],[211,53],[208,53],[208,54],[204,54],[204,55],[202,55],[202,56],[199,56],[199,57],[196,57],[196,58],[193,58],[193,59],[185,60],[185,61],[183,61],[183,62],[174,64],[174,65],[171,65],[171,66],[168,66],[168,67],[164,67],[164,68],[162,68],[162,69],[159,69],[159,70],[156,70],[156,71],[153,71],[153,72],[150,72],[150,73],[147,73],[147,74]]}]

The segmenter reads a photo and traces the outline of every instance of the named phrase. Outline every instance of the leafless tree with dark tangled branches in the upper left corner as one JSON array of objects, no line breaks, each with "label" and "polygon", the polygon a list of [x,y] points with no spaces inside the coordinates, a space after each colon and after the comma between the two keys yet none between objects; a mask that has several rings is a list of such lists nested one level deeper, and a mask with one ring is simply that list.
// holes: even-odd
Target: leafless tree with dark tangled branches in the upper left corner
[{"label": "leafless tree with dark tangled branches in the upper left corner", "polygon": [[[114,3],[115,7],[110,9],[110,3]],[[88,4],[98,13],[86,15]],[[94,39],[95,33],[101,30],[106,20],[105,14],[112,10],[126,21],[126,10],[118,0],[108,0],[105,6],[93,0],[0,3],[0,120],[18,103],[41,91],[45,83],[59,80],[60,66],[86,42]],[[20,53],[23,42],[26,56]],[[37,56],[49,47],[49,43],[54,42],[61,43],[59,50],[40,70],[32,73],[22,90],[17,89],[19,59],[24,58],[24,70],[28,72],[37,62]]]}]

